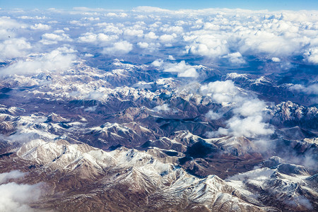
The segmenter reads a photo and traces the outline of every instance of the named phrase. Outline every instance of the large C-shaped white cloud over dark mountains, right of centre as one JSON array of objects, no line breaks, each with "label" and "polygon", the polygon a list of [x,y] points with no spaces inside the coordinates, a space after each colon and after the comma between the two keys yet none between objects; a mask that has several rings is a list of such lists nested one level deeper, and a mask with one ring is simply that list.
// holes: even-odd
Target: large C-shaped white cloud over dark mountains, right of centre
[{"label": "large C-shaped white cloud over dark mountains, right of centre", "polygon": [[[233,116],[225,121],[226,128],[220,127],[218,131],[211,131],[207,136],[246,136],[256,138],[257,136],[266,136],[273,134],[270,124],[264,122],[263,112],[265,102],[243,95],[232,81],[215,81],[201,86],[203,95],[211,96],[218,102],[230,103]],[[221,114],[209,111],[206,114],[209,119],[220,119]]]}]

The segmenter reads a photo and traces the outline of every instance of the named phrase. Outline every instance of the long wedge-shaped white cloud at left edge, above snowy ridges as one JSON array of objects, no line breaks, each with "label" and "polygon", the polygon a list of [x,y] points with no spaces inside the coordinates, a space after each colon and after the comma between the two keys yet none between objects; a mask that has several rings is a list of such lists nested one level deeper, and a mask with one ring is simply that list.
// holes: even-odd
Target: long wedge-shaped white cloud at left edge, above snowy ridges
[{"label": "long wedge-shaped white cloud at left edge, above snowy ridges", "polygon": [[39,54],[35,57],[16,61],[10,66],[0,69],[0,76],[4,75],[29,75],[50,71],[66,71],[71,68],[73,61],[76,59],[73,49],[61,47],[52,52]]}]

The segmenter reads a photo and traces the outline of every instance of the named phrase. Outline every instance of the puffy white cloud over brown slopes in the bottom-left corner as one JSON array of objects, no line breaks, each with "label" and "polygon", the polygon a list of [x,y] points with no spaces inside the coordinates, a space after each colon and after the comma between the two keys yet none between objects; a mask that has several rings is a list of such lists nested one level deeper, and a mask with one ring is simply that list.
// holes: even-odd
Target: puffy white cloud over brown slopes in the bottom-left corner
[{"label": "puffy white cloud over brown slopes in the bottom-left corner", "polygon": [[40,184],[8,182],[10,179],[18,179],[24,176],[25,173],[18,170],[0,174],[0,211],[35,211],[28,204],[40,198]]}]

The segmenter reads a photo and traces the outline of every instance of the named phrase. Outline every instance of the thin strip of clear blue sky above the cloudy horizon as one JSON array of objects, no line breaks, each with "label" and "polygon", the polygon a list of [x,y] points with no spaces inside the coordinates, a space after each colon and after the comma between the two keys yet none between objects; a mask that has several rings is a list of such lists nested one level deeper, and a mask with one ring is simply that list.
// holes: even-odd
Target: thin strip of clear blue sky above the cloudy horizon
[{"label": "thin strip of clear blue sky above the cloudy horizon", "polygon": [[302,9],[317,10],[317,0],[0,0],[0,8],[62,8],[85,6],[89,8],[124,9],[129,10],[136,6],[156,6],[168,9],[180,8],[247,8],[252,10],[268,9],[269,11]]}]

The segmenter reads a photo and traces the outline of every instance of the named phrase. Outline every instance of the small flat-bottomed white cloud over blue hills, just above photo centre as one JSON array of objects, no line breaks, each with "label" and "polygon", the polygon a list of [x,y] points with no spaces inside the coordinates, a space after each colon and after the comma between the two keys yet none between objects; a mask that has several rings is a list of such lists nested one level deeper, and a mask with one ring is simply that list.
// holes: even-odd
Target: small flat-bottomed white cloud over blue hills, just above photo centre
[{"label": "small flat-bottomed white cloud over blue hills, just above photo centre", "polygon": [[180,61],[179,64],[165,64],[163,71],[170,73],[178,73],[178,77],[198,77],[199,73],[196,72],[193,66]]}]

